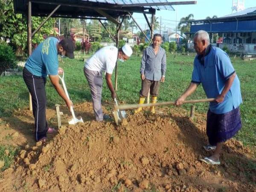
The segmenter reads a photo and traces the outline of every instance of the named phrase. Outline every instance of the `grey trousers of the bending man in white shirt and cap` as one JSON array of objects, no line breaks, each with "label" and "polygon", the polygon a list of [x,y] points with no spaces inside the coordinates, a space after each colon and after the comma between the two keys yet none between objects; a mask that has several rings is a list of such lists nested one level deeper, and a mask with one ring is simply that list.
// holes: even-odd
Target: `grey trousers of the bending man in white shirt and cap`
[{"label": "grey trousers of the bending man in white shirt and cap", "polygon": [[84,67],[84,75],[88,81],[91,96],[93,99],[93,111],[96,117],[96,121],[103,120],[103,112],[101,106],[101,97],[102,97],[102,73],[98,71],[88,70]]}]

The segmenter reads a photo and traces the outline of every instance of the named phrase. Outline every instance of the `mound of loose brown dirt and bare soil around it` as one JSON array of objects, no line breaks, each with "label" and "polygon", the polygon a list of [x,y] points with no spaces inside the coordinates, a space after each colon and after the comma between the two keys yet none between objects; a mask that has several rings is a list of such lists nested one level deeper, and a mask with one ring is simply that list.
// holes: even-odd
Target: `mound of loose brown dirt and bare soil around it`
[{"label": "mound of loose brown dirt and bare soil around it", "polygon": [[[220,166],[198,161],[210,155],[202,148],[205,115],[191,120],[181,108],[158,108],[155,116],[129,114],[116,126],[94,121],[86,102],[75,107],[84,123],[68,125],[69,113],[61,111],[63,126],[43,144],[34,141],[30,111],[1,118],[6,124],[0,125],[0,143],[22,150],[0,177],[0,191],[256,192],[256,169],[250,166],[256,160],[241,142],[225,143]],[[47,110],[47,119],[57,127],[54,109]]]}]

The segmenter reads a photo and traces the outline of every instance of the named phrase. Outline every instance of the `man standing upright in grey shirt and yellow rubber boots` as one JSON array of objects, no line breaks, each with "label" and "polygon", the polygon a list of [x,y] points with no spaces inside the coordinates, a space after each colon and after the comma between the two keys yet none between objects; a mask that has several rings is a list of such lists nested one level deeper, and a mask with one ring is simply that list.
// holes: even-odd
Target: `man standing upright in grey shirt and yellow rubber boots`
[{"label": "man standing upright in grey shirt and yellow rubber boots", "polygon": [[[151,103],[157,102],[158,90],[160,81],[164,82],[166,72],[166,52],[160,47],[162,36],[154,34],[153,44],[144,50],[141,60],[140,76],[141,90],[139,104],[145,102],[145,97],[148,96],[150,90]],[[142,111],[142,108],[135,110],[135,113]],[[151,113],[155,113],[154,107],[150,108]]]}]

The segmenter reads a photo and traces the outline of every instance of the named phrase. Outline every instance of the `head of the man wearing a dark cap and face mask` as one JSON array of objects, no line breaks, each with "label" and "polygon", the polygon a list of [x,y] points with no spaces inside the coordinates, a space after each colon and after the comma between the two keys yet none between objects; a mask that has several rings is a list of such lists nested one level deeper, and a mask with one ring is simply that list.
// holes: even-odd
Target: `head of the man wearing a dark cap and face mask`
[{"label": "head of the man wearing a dark cap and face mask", "polygon": [[75,58],[74,50],[75,50],[75,46],[73,41],[70,38],[63,39],[58,44],[59,55],[67,56],[68,58]]}]

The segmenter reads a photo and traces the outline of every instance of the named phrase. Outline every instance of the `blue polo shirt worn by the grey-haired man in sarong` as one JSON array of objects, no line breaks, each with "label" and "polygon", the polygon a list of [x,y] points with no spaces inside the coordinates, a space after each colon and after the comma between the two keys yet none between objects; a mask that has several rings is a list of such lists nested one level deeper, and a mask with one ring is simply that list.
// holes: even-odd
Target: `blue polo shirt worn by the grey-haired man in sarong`
[{"label": "blue polo shirt worn by the grey-haired man in sarong", "polygon": [[[235,73],[235,69],[227,53],[217,47],[212,47],[204,57],[204,64],[201,64],[199,58],[197,55],[194,60],[192,82],[202,84],[207,98],[216,98],[224,89],[227,79]],[[210,102],[209,109],[212,113],[223,114],[239,107],[241,103],[240,82],[236,75],[224,101]]]}]

